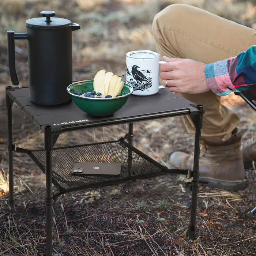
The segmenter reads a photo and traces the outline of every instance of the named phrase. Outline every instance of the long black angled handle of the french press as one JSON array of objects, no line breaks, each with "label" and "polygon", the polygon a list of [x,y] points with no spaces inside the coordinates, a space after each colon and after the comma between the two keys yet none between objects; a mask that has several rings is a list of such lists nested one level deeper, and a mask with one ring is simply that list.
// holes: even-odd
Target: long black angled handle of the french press
[{"label": "long black angled handle of the french press", "polygon": [[7,47],[8,47],[8,61],[11,81],[13,85],[18,85],[18,77],[15,67],[15,45],[14,39],[27,39],[27,33],[14,33],[12,30],[7,31]]}]

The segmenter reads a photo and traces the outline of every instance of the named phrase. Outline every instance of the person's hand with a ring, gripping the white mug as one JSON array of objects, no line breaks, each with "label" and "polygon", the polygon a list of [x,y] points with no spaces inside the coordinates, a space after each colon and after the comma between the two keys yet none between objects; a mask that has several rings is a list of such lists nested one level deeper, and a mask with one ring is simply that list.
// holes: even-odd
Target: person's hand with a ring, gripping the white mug
[{"label": "person's hand with a ring, gripping the white mug", "polygon": [[163,56],[167,63],[160,66],[162,84],[173,93],[205,93],[210,91],[204,75],[206,64],[191,59]]}]

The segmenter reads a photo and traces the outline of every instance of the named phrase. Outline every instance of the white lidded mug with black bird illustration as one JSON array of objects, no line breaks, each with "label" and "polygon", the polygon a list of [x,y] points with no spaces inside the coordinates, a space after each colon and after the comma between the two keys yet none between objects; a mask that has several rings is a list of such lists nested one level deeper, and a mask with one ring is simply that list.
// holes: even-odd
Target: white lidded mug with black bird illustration
[{"label": "white lidded mug with black bird illustration", "polygon": [[159,89],[159,53],[151,50],[138,50],[126,54],[126,83],[133,87],[133,95],[152,95]]}]

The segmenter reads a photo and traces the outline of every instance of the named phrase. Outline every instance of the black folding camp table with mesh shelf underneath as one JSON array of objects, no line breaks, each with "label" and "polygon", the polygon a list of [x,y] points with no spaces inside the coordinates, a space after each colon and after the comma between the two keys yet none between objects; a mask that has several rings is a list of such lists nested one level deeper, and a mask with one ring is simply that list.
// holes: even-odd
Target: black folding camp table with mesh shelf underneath
[{"label": "black folding camp table with mesh shelf underneath", "polygon": [[[101,185],[166,173],[184,174],[192,181],[187,188],[192,191],[191,218],[188,237],[196,239],[196,205],[199,179],[200,134],[203,106],[161,89],[150,96],[130,95],[123,108],[105,117],[90,116],[80,110],[73,101],[56,106],[39,106],[30,102],[29,88],[6,87],[8,115],[9,153],[9,204],[14,205],[13,151],[27,153],[46,175],[46,255],[52,255],[52,204],[62,193],[78,191]],[[44,133],[44,150],[20,148],[12,142],[12,105],[16,103],[31,122]],[[22,113],[22,112],[20,112]],[[132,146],[133,123],[157,118],[189,115],[195,124],[194,166],[191,170],[168,169]],[[54,148],[63,132],[78,131],[117,124],[129,124],[124,138],[112,142],[85,144]],[[105,152],[105,153],[104,153]],[[106,154],[108,152],[108,154]],[[107,157],[104,157],[107,156]],[[111,156],[115,156],[112,157]],[[82,159],[82,160],[81,160]],[[121,173],[117,176],[74,176],[71,174],[75,162],[119,162]],[[52,183],[59,190],[52,194]]]}]

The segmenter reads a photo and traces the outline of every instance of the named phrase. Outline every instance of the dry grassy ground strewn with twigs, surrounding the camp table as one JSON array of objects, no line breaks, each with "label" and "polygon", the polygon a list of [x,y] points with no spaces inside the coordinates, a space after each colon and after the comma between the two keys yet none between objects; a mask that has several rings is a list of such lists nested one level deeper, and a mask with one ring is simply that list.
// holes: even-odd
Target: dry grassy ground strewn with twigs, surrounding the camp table
[{"label": "dry grassy ground strewn with twigs, surrounding the camp table", "polygon": [[[79,23],[73,33],[74,80],[91,79],[101,68],[125,73],[125,53],[136,49],[155,50],[151,23],[165,5],[189,3],[245,25],[255,23],[253,1],[0,1],[0,95],[1,120],[5,120],[4,87],[11,85],[6,58],[6,31],[26,31],[25,20],[42,10]],[[26,42],[15,42],[20,86],[27,86]],[[241,118],[242,140],[255,132],[255,113],[240,98],[223,97]],[[18,119],[13,107],[14,141],[19,147],[43,148],[43,135],[26,118]],[[16,120],[17,118],[17,120]],[[22,122],[22,129],[20,123]],[[4,121],[3,121],[4,123]],[[8,199],[8,152],[6,127],[0,136],[0,255],[44,255],[45,176],[24,154],[15,153],[15,209]],[[116,140],[127,125],[61,134],[56,146]],[[143,136],[144,135],[144,136]],[[134,124],[134,146],[163,165],[175,150],[187,150],[193,136],[186,133],[182,118]],[[256,222],[246,215],[255,204],[256,171],[246,173],[249,188],[230,193],[199,187],[197,230],[199,237],[187,239],[190,194],[183,177],[163,176],[133,182],[131,193],[125,184],[63,195],[53,205],[53,255],[255,255]]]}]

